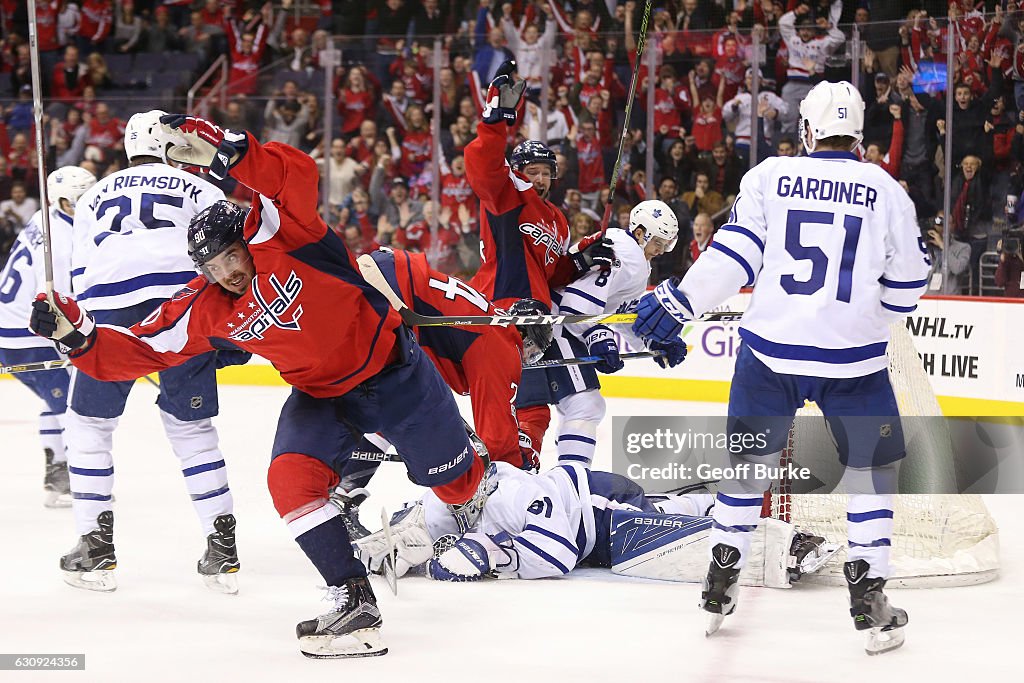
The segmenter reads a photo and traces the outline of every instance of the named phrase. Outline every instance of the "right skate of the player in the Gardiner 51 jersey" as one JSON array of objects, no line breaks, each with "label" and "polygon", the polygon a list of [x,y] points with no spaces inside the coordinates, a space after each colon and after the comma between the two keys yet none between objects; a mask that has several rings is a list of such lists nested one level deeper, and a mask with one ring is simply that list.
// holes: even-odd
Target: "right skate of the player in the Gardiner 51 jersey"
[{"label": "right skate of the player in the Gardiner 51 jersey", "polygon": [[889,604],[882,592],[885,579],[868,579],[870,567],[864,560],[843,565],[843,573],[850,589],[850,616],[857,631],[868,631],[864,651],[882,654],[903,644],[906,635],[903,627],[909,621],[906,611]]}]

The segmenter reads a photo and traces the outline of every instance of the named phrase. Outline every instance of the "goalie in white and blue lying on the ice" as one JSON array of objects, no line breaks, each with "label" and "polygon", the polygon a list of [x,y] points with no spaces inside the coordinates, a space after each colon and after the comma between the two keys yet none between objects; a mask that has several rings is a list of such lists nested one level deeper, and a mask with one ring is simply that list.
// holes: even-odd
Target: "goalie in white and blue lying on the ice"
[{"label": "goalie in white and blue lying on the ice", "polygon": [[[494,467],[486,503],[464,535],[430,492],[392,517],[397,575],[414,570],[456,582],[545,579],[595,566],[646,579],[702,579],[713,495],[647,496],[624,476],[573,464],[538,475],[506,463]],[[839,549],[792,524],[762,522],[740,574],[746,585],[788,587]],[[355,548],[370,571],[381,572],[390,561],[383,530]]]}]

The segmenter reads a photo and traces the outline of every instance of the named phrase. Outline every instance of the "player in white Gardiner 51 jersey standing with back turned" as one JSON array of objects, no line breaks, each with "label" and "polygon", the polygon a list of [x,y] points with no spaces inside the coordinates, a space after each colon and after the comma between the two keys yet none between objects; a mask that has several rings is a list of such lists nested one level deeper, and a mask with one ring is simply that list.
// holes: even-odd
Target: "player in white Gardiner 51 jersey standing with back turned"
[{"label": "player in white Gardiner 51 jersey standing with back turned", "polygon": [[[906,193],[851,152],[863,117],[849,83],[815,86],[800,105],[809,157],[767,159],[743,176],[715,244],[681,283],[662,283],[640,301],[634,331],[673,339],[687,321],[754,286],[729,428],[771,436],[738,461],[777,465],[794,414],[804,399],[817,402],[847,466],[850,612],[858,630],[870,631],[866,649],[876,654],[902,644],[907,623],[883,593],[895,464],[905,455],[887,372],[889,324],[916,307],[930,261]],[[735,579],[768,483],[737,479],[718,496],[701,594],[713,614],[709,633],[736,606]]]}]

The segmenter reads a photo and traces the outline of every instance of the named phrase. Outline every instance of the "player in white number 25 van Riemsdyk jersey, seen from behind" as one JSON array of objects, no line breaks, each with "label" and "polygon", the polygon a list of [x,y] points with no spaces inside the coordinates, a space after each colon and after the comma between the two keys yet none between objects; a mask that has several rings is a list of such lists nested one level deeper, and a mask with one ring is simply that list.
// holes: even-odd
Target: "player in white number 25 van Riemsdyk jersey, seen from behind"
[{"label": "player in white number 25 van Riemsdyk jersey, seen from behind", "polygon": [[[193,216],[224,199],[207,180],[166,163],[166,147],[174,140],[161,132],[163,114],[155,110],[129,119],[125,129],[129,168],[97,182],[76,207],[72,287],[96,323],[124,327],[138,323],[193,280],[196,270],[186,249],[186,228]],[[239,353],[226,341],[224,348]],[[236,521],[211,421],[218,408],[216,368],[223,365],[217,353],[161,373],[157,404],[207,538],[199,573],[213,590],[236,593]],[[117,587],[112,571],[117,565],[112,450],[114,430],[133,384],[100,382],[77,370],[72,374],[68,460],[81,539],[60,559],[60,567],[65,581],[77,588]]]}]

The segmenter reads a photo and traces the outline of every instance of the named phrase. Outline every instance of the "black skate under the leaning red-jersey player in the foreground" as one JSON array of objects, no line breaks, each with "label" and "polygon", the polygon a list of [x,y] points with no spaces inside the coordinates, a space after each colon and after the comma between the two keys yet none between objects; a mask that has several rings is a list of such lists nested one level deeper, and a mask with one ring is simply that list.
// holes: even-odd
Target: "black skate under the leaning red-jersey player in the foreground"
[{"label": "black skate under the leaning red-jersey player in the foreground", "polygon": [[381,612],[366,577],[329,586],[334,609],[295,627],[299,649],[307,657],[328,659],[387,654],[381,639]]}]

